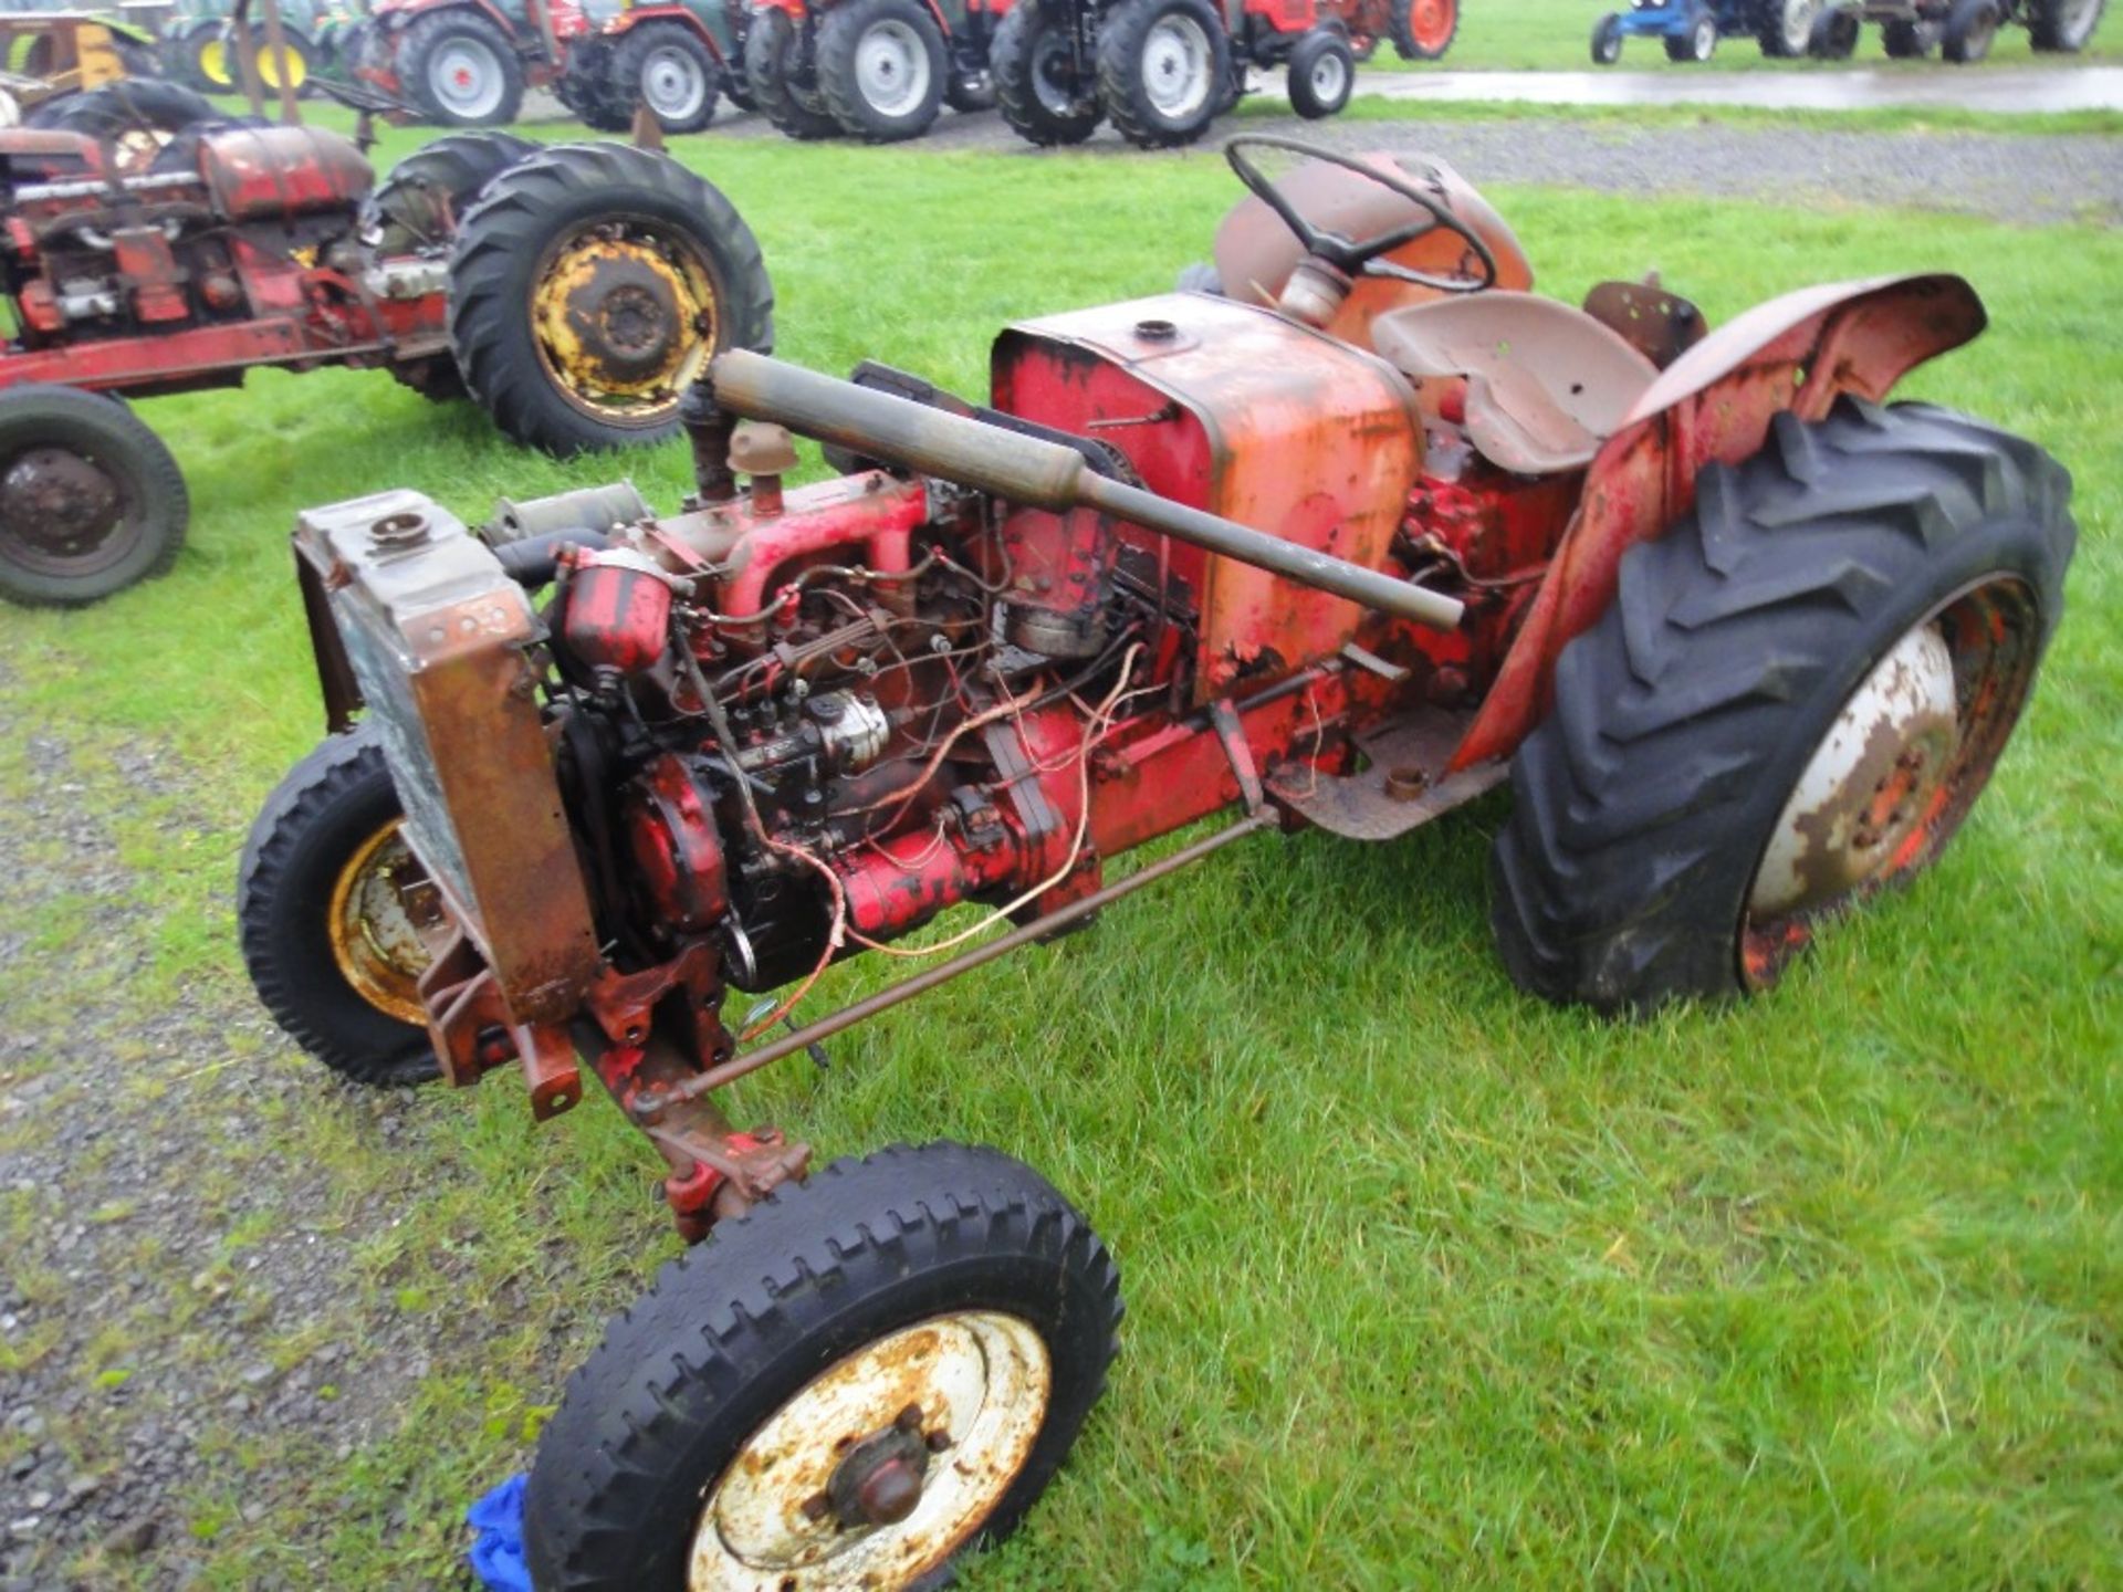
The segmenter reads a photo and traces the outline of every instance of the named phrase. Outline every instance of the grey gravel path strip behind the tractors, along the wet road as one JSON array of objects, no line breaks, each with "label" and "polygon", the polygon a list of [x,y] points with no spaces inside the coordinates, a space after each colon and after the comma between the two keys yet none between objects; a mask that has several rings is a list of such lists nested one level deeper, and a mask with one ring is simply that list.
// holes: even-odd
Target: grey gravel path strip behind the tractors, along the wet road
[{"label": "grey gravel path strip behind the tractors, along the wet road", "polygon": [[[1452,161],[1478,187],[1554,183],[1603,193],[1705,193],[1781,204],[1966,210],[1996,221],[2123,225],[2123,138],[2030,134],[1875,134],[1728,127],[1643,127],[1613,121],[1225,121],[1236,132],[1280,134],[1333,149],[1420,149]],[[762,117],[718,121],[709,138],[775,138]],[[1038,159],[994,113],[945,115],[915,149],[996,151]],[[1085,153],[1125,159],[1199,159],[1202,151],[1144,155],[1102,127]]]}]

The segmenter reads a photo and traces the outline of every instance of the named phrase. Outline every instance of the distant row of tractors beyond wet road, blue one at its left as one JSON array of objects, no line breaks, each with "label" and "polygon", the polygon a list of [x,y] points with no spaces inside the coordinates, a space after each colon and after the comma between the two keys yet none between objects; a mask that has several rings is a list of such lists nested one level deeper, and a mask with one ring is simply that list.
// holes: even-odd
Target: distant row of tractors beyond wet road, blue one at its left
[{"label": "distant row of tractors beyond wet road, blue one at its left", "polygon": [[1592,25],[1592,59],[1613,66],[1626,38],[1658,38],[1673,62],[1707,62],[1718,40],[1751,34],[1764,55],[1847,62],[1866,23],[1894,59],[1943,51],[1972,64],[1998,30],[2025,28],[2034,49],[2076,55],[2093,38],[2108,0],[1633,0]]}]

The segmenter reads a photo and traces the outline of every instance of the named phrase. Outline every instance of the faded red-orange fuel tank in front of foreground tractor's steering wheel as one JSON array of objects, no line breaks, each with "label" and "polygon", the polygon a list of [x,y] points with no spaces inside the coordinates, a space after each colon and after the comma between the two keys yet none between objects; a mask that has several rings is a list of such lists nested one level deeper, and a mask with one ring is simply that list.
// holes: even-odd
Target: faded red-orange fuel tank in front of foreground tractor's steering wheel
[{"label": "faded red-orange fuel tank in front of foreground tractor's steering wheel", "polygon": [[[1161,497],[1378,569],[1422,463],[1408,380],[1272,310],[1166,293],[1025,321],[994,348],[1006,414],[1117,448]],[[1363,609],[1140,526],[1199,618],[1197,700],[1265,686],[1354,639]]]}]

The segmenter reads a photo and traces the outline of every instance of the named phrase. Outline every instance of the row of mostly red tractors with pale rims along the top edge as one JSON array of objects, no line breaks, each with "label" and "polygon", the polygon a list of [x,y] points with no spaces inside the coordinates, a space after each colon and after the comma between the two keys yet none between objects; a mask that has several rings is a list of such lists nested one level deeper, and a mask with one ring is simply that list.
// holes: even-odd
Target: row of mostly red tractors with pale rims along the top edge
[{"label": "row of mostly red tractors with pale rims along the top edge", "polygon": [[1144,146],[1185,144],[1233,106],[1253,68],[1284,68],[1291,106],[1337,113],[1380,38],[1437,59],[1459,0],[382,0],[350,57],[357,83],[427,121],[514,121],[527,87],[588,127],[645,106],[698,132],[718,100],[790,138],[919,138],[949,106],[1002,106],[1034,144],[1104,121]]}]

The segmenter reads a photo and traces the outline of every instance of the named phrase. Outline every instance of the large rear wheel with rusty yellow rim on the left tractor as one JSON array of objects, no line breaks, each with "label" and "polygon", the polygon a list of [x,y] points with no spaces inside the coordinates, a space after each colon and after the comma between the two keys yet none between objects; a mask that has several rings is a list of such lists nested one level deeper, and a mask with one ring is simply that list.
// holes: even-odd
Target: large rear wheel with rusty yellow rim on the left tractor
[{"label": "large rear wheel with rusty yellow rim on the left tractor", "polygon": [[773,350],[775,291],[737,208],[667,155],[558,144],[488,183],[450,253],[450,348],[516,442],[633,448],[724,348]]}]

